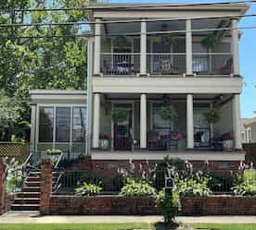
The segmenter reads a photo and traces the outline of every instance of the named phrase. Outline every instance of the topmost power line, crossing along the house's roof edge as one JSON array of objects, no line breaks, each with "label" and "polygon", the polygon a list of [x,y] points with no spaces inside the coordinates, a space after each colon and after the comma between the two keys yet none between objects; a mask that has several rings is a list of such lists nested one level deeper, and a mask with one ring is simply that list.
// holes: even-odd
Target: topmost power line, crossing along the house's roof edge
[{"label": "topmost power line, crossing along the house's roof edge", "polygon": [[211,2],[211,3],[194,3],[194,4],[131,4],[128,6],[127,4],[117,5],[117,6],[108,6],[108,4],[105,5],[90,5],[90,4],[85,4],[84,7],[66,7],[66,8],[28,8],[28,9],[8,9],[8,8],[0,8],[0,11],[5,11],[5,12],[34,12],[34,11],[72,11],[72,10],[78,10],[78,11],[83,11],[83,10],[88,10],[92,8],[93,6],[96,6],[97,8],[108,8],[108,9],[117,9],[117,8],[142,8],[142,7],[166,7],[166,6],[173,6],[173,7],[180,7],[180,6],[218,6],[218,5],[232,5],[232,4],[247,4],[247,3],[255,3],[256,0],[244,0],[244,1],[234,1],[234,2]]}]

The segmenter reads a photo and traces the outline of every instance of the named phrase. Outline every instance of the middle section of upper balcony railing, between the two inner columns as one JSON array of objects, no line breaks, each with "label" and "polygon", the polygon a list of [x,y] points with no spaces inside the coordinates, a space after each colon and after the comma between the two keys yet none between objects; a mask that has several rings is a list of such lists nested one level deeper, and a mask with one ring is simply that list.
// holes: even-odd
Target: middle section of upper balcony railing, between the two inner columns
[{"label": "middle section of upper balcony railing, between the two inner columns", "polygon": [[147,72],[152,75],[180,75],[186,73],[186,54],[148,53]]}]

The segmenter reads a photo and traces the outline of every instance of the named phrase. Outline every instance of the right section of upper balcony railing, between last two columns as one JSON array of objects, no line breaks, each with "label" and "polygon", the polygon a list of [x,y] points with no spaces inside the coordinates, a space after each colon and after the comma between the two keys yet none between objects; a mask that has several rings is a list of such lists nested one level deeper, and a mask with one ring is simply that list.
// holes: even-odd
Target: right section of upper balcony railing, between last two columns
[{"label": "right section of upper balcony railing, between last two columns", "polygon": [[230,75],[233,71],[232,54],[220,53],[194,53],[193,73]]}]

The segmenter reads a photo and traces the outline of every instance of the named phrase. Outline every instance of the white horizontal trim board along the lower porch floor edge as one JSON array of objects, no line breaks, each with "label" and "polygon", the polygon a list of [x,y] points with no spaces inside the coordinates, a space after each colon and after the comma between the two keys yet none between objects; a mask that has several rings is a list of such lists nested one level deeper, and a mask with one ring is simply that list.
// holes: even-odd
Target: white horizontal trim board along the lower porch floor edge
[{"label": "white horizontal trim board along the lower porch floor edge", "polygon": [[244,152],[225,151],[92,151],[92,160],[163,160],[165,156],[187,161],[244,161]]}]

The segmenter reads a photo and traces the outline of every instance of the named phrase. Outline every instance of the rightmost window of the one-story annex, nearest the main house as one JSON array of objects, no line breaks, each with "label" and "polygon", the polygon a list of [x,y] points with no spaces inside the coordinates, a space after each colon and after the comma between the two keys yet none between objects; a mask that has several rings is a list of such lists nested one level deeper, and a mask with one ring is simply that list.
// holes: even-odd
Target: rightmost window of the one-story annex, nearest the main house
[{"label": "rightmost window of the one-story annex, nearest the main house", "polygon": [[85,139],[86,108],[73,107],[73,142],[83,142]]}]

